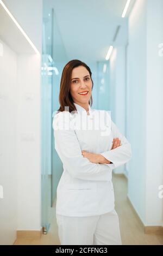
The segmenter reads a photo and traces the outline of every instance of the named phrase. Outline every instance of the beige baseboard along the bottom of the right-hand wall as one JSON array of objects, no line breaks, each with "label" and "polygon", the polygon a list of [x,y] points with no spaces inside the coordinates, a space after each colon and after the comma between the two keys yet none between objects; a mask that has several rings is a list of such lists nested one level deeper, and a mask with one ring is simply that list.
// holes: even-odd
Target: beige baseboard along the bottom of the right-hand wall
[{"label": "beige baseboard along the bottom of the right-hand wall", "polygon": [[136,212],[136,210],[135,210],[133,204],[131,203],[131,201],[130,201],[128,195],[127,195],[127,200],[128,200],[128,202],[129,202],[131,208],[133,209],[136,218],[139,219],[139,222],[140,222],[140,224],[142,225],[145,234],[163,235],[163,227],[161,227],[161,226],[145,226],[145,225],[143,224],[141,218],[139,217],[138,213]]}]

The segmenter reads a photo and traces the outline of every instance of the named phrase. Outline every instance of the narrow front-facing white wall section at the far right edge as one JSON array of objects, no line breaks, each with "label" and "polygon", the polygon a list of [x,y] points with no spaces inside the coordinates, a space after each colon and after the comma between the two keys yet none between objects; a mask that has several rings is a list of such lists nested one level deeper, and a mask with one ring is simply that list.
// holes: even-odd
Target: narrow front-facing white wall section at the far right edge
[{"label": "narrow front-facing white wall section at the far right edge", "polygon": [[148,0],[147,5],[147,126],[146,126],[146,224],[163,225],[162,199],[158,188],[163,184],[163,1]]}]

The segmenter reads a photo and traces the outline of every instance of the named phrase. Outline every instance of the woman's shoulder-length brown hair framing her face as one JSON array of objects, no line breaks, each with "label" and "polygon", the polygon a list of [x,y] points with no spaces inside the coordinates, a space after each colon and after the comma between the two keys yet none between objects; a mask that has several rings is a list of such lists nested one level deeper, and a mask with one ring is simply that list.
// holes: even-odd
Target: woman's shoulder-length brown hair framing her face
[{"label": "woman's shoulder-length brown hair framing her face", "polygon": [[[90,73],[90,77],[92,75],[91,69],[82,61],[79,61],[78,59],[72,59],[72,61],[69,61],[63,71],[61,76],[61,82],[60,82],[60,92],[59,92],[59,103],[60,108],[58,111],[65,111],[65,106],[69,106],[69,112],[71,111],[77,111],[76,106],[73,104],[73,99],[71,97],[70,93],[70,84],[71,84],[71,75],[73,68],[83,66],[85,67],[88,72]],[[92,81],[92,78],[91,78]],[[93,88],[93,81],[92,81],[92,88]],[[92,106],[92,96],[91,96],[91,103],[89,100],[89,104]]]}]

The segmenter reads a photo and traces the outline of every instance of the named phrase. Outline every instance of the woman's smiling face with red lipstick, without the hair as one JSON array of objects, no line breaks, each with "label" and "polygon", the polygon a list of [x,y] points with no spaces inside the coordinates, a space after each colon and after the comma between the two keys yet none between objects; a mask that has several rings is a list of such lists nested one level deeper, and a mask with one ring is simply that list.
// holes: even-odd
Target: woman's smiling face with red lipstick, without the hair
[{"label": "woman's smiling face with red lipstick, without the hair", "polygon": [[[80,94],[82,93],[83,94]],[[74,103],[89,103],[92,92],[92,81],[88,70],[79,66],[72,70],[70,93]]]}]

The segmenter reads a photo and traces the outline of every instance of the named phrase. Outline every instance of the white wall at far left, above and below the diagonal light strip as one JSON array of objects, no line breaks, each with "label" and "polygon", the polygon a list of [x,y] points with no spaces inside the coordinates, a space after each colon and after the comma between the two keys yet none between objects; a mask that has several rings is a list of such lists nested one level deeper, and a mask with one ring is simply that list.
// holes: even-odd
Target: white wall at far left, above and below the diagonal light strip
[{"label": "white wall at far left, above and below the diagonal light strip", "polygon": [[[4,2],[41,52],[42,1]],[[16,55],[4,44],[0,77],[0,243],[11,245],[16,230],[41,229],[41,55]]]}]

